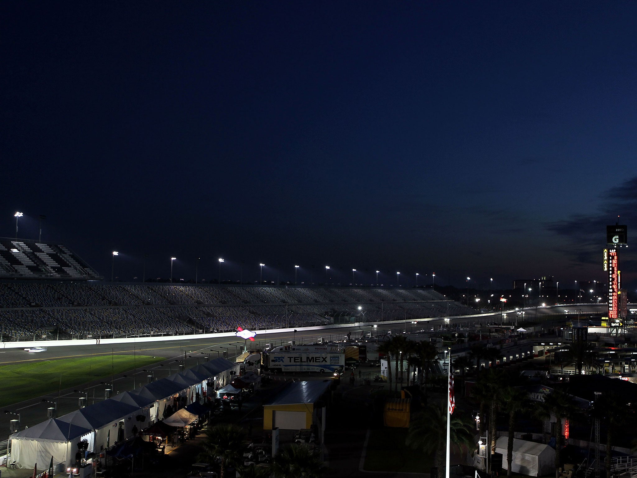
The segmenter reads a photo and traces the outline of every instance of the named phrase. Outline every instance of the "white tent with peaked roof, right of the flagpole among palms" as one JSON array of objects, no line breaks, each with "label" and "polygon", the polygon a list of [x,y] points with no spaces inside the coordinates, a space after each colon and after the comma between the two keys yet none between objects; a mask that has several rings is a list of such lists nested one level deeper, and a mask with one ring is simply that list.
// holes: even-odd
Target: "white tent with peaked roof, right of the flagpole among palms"
[{"label": "white tent with peaked roof, right of the flagpole among palms", "polygon": [[[502,454],[502,467],[508,468],[508,437],[497,438],[496,453]],[[542,476],[555,472],[555,450],[548,445],[513,438],[511,471],[522,475]]]}]

